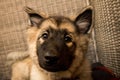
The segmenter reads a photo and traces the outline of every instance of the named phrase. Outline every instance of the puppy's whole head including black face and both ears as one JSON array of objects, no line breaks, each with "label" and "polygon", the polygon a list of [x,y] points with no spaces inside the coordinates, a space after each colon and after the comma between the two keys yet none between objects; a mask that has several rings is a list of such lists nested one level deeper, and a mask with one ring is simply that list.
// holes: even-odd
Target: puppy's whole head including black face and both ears
[{"label": "puppy's whole head including black face and both ears", "polygon": [[44,18],[30,12],[30,8],[26,11],[31,26],[35,27],[30,39],[35,42],[39,66],[50,72],[67,70],[75,58],[80,35],[87,34],[90,29],[92,10],[86,9],[74,21],[62,16]]}]

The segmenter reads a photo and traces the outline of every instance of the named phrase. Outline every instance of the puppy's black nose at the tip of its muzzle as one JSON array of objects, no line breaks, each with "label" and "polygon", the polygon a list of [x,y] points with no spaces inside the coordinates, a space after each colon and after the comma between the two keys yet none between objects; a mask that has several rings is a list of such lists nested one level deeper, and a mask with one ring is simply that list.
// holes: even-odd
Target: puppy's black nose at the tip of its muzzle
[{"label": "puppy's black nose at the tip of its muzzle", "polygon": [[44,58],[47,65],[54,65],[58,61],[58,56],[55,54],[47,53]]}]

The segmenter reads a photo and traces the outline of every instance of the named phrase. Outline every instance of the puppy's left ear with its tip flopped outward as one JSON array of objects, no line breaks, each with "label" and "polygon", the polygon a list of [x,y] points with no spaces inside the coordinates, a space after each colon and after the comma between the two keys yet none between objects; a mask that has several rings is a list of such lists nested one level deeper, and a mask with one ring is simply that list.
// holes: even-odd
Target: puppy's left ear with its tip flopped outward
[{"label": "puppy's left ear with its tip flopped outward", "polygon": [[25,12],[27,12],[31,26],[38,27],[41,21],[44,19],[40,14],[38,14],[35,10],[25,7]]}]

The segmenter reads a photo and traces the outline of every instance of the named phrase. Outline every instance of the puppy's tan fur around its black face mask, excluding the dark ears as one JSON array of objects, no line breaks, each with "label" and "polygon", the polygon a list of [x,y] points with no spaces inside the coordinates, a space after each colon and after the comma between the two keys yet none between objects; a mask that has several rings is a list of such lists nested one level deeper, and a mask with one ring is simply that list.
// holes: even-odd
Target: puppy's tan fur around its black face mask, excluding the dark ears
[{"label": "puppy's tan fur around its black face mask, excluding the dark ears", "polygon": [[[77,48],[75,50],[75,58],[71,66],[66,71],[48,72],[42,69],[38,64],[38,56],[36,53],[37,38],[42,35],[46,29],[52,27],[54,29],[66,29],[70,32],[73,40],[77,42]],[[16,63],[12,65],[12,80],[73,80],[72,78],[78,77],[80,80],[92,80],[90,64],[87,61],[85,54],[88,45],[88,35],[77,36],[74,34],[74,25],[63,21],[63,23],[57,27],[57,24],[53,18],[44,21],[40,29],[37,27],[31,27],[27,31],[28,52],[27,57],[22,60],[16,60]],[[43,39],[39,39],[39,43],[42,44]],[[71,47],[72,43],[67,43]],[[12,54],[10,54],[12,55]]]}]

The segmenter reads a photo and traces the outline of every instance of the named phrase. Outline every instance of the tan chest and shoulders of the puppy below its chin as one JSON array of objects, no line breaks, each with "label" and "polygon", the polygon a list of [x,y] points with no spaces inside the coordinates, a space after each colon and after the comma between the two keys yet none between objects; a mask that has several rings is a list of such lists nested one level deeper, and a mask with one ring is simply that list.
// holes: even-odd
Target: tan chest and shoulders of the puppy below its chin
[{"label": "tan chest and shoulders of the puppy below its chin", "polygon": [[[77,60],[76,60],[77,61]],[[77,61],[79,63],[79,61]],[[76,63],[77,63],[76,62]],[[84,63],[84,65],[83,65]],[[80,76],[80,80],[92,80],[90,73],[90,65],[86,60],[83,60],[81,63],[73,65],[70,70],[59,73],[51,73],[44,71],[42,68],[38,68],[36,64],[31,60],[31,58],[27,58],[23,61],[17,62],[12,66],[12,80],[61,80],[61,77],[69,78],[74,76]],[[22,67],[21,67],[22,65]],[[76,68],[76,69],[74,69]],[[74,70],[74,71],[72,71]]]}]

